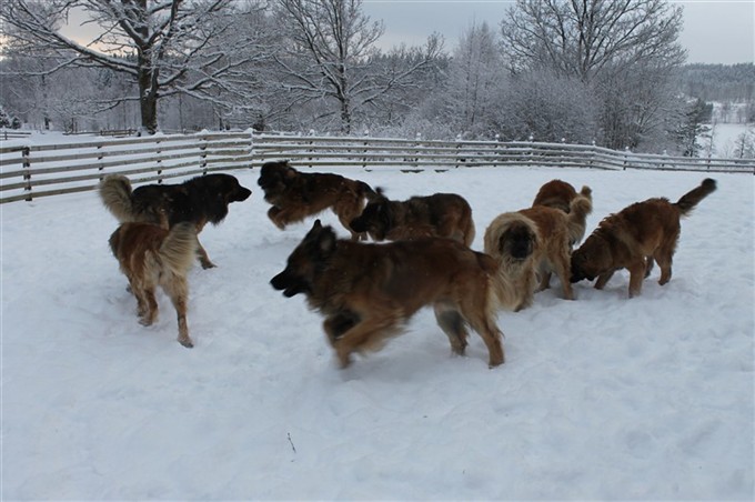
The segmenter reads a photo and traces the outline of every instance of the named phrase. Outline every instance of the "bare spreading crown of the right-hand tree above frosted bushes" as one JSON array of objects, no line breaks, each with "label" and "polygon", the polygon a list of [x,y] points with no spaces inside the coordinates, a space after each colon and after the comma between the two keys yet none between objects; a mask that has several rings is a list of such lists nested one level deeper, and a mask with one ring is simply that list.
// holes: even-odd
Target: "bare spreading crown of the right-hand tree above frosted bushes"
[{"label": "bare spreading crown of the right-hand tree above frosted bushes", "polygon": [[545,67],[584,81],[650,60],[677,66],[681,7],[665,0],[517,0],[501,23],[515,70]]}]

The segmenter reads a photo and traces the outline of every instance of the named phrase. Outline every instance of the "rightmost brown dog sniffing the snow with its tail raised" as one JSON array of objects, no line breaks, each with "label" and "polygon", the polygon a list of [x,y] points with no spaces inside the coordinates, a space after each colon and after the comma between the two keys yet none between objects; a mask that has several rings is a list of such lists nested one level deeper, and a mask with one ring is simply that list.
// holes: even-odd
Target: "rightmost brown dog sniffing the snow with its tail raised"
[{"label": "rightmost brown dog sniffing the snow with its tail raised", "polygon": [[572,254],[572,282],[597,278],[595,288],[600,290],[616,270],[628,269],[632,298],[640,294],[643,279],[650,275],[653,262],[657,261],[661,267],[658,284],[666,284],[672,275],[681,217],[688,215],[715,190],[715,180],[707,178],[676,203],[665,198],[648,199],[606,217]]}]

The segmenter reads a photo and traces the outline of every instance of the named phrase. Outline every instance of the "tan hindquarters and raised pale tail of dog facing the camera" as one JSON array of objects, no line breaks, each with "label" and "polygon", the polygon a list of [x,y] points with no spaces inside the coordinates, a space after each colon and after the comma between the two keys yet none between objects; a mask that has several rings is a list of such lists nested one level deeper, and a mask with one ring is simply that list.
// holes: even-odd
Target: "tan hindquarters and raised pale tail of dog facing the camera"
[{"label": "tan hindquarters and raised pale tail of dog facing the camera", "polygon": [[592,191],[582,188],[570,203],[568,213],[547,205],[535,205],[523,209],[520,214],[532,220],[537,227],[540,237],[535,249],[535,267],[540,278],[540,290],[547,289],[551,274],[556,273],[561,281],[564,298],[574,300],[571,283],[571,253],[575,238],[585,233],[587,214],[593,211]]}]

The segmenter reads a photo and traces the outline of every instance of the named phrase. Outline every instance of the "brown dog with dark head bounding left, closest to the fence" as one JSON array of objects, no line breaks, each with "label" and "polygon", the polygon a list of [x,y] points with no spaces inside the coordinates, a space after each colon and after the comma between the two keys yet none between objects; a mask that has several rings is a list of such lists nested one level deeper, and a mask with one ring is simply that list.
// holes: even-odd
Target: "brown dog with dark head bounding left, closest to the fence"
[{"label": "brown dog with dark head bounding left, closest to the fence", "polygon": [[301,172],[288,161],[278,161],[262,164],[258,184],[264,191],[264,200],[272,204],[268,217],[281,230],[330,208],[351,232],[352,240],[364,237],[350,225],[364,209],[366,199],[375,195],[363,181],[340,174]]}]

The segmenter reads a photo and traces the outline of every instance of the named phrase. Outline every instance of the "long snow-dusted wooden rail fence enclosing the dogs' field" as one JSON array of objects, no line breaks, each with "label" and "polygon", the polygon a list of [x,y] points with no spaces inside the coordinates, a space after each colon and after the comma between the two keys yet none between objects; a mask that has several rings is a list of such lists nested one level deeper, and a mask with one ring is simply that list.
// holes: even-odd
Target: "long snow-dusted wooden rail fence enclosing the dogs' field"
[{"label": "long snow-dusted wooden rail fence enclosing the dogs' field", "polygon": [[414,171],[546,165],[755,174],[755,159],[638,154],[584,144],[204,132],[66,144],[24,140],[0,144],[0,203],[92,190],[111,173],[125,174],[139,184],[259,168],[269,160],[283,159],[299,168],[318,169],[399,165]]}]

